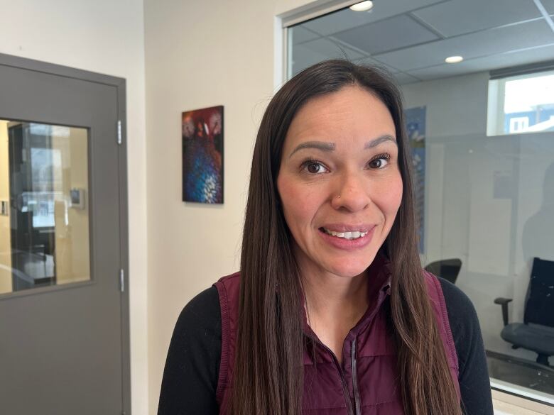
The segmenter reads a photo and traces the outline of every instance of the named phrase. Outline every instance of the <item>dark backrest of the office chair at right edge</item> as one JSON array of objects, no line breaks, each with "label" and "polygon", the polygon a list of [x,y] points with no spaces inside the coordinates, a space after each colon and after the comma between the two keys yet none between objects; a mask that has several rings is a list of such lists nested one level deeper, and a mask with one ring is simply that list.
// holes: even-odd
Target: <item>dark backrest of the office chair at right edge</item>
[{"label": "dark backrest of the office chair at right edge", "polygon": [[554,327],[554,261],[533,258],[523,322]]}]

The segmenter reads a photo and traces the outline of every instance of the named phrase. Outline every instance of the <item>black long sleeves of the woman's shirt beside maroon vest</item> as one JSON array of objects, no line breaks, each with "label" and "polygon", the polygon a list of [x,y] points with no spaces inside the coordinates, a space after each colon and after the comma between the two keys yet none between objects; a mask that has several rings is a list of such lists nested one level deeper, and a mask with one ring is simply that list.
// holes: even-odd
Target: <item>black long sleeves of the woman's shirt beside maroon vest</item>
[{"label": "black long sleeves of the woman's shirt beside maroon vest", "polygon": [[[472,302],[440,279],[456,346],[465,413],[492,415],[491,389],[479,320]],[[217,289],[193,298],[181,312],[165,362],[158,415],[217,415],[215,399],[221,358]]]}]

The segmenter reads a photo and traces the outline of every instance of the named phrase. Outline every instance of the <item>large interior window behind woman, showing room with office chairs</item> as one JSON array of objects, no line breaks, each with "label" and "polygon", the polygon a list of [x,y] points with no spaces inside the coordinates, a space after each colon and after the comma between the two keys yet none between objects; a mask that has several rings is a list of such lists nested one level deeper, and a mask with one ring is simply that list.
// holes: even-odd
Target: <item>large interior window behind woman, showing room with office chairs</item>
[{"label": "large interior window behind woman, showing room with office chairs", "polygon": [[[472,300],[491,384],[554,404],[548,16],[533,2],[501,0],[372,6],[288,27],[287,76],[335,57],[391,72],[417,170],[422,266]],[[462,59],[447,63],[451,55]],[[505,68],[517,76],[491,81],[491,70]]]}]

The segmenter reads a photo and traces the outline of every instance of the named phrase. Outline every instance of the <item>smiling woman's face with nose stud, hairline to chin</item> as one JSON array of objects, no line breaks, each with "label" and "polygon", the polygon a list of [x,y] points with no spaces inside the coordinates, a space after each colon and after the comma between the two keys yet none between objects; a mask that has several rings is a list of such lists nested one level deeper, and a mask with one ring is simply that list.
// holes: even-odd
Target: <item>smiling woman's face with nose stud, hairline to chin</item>
[{"label": "smiling woman's face with nose stud, hairline to chin", "polygon": [[288,129],[277,188],[300,271],[362,274],[402,199],[389,110],[355,86],[308,101]]}]

